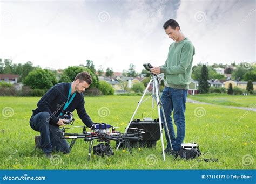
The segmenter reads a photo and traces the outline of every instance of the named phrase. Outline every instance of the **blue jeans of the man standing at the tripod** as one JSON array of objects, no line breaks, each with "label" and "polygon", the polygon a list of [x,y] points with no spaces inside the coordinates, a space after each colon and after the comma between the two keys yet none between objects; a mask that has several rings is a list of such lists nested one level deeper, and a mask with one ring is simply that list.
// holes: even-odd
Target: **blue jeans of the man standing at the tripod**
[{"label": "blue jeans of the man standing at the tripod", "polygon": [[[186,89],[174,89],[170,87],[165,87],[163,94],[161,95],[166,122],[169,129],[169,135],[172,142],[172,148],[175,151],[178,151],[180,149],[180,144],[183,143],[185,137],[185,110],[187,91],[188,90]],[[175,136],[172,124],[172,111],[174,123],[177,126],[177,136]],[[161,121],[162,123],[164,122],[163,112],[161,112]],[[165,137],[167,139],[167,148],[171,148],[166,128]]]}]

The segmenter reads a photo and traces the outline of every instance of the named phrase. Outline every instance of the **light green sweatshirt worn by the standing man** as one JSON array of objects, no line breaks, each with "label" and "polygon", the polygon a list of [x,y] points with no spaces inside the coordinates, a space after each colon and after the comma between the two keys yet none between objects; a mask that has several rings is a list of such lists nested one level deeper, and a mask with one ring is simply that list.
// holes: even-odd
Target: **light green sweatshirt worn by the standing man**
[{"label": "light green sweatshirt worn by the standing man", "polygon": [[169,47],[168,58],[160,67],[166,76],[167,86],[176,89],[188,89],[191,80],[191,70],[194,46],[188,38],[179,43],[173,42]]}]

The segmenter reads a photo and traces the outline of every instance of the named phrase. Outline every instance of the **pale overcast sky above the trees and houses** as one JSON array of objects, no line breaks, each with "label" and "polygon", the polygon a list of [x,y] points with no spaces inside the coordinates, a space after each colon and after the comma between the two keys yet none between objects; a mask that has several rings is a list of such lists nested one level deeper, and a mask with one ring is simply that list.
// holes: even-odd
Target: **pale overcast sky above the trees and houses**
[{"label": "pale overcast sky above the trees and houses", "polygon": [[199,62],[255,62],[255,1],[0,1],[0,58],[66,68],[163,65],[176,19]]}]

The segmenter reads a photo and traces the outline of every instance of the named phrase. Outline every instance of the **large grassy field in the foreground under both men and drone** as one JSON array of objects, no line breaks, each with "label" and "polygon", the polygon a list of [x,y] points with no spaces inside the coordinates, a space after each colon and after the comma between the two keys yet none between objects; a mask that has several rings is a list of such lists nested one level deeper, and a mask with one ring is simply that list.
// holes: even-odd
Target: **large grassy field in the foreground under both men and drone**
[{"label": "large grassy field in the foreground under both men and drone", "polygon": [[[101,96],[85,97],[85,107],[94,122],[105,122],[120,126],[120,131],[129,122],[140,96]],[[255,154],[255,112],[230,109],[221,106],[190,104],[186,107],[185,142],[195,141],[203,153],[200,159],[218,158],[219,162],[198,162],[197,160],[176,160],[161,157],[161,144],[142,150],[133,149],[133,156],[128,151],[116,152],[111,157],[95,156],[87,161],[87,148],[84,140],[77,140],[68,155],[58,154],[61,160],[51,162],[41,150],[34,149],[34,139],[38,132],[29,125],[31,110],[36,107],[37,97],[0,97],[0,169],[254,169],[255,165],[242,163],[244,155]],[[11,117],[4,117],[3,110],[14,110]],[[102,107],[109,109],[109,116],[98,115]],[[196,109],[197,108],[197,109]],[[200,110],[203,111],[202,117]],[[156,107],[152,109],[151,100],[139,108],[136,118],[157,117]],[[196,116],[197,115],[197,116]],[[75,125],[83,125],[75,112]],[[69,130],[68,130],[69,131]],[[72,129],[69,132],[82,132]],[[114,142],[111,144],[114,147]],[[147,161],[154,155],[156,163]],[[247,157],[247,156],[246,156]],[[248,161],[248,160],[247,160]],[[55,165],[55,163],[57,163]]]}]

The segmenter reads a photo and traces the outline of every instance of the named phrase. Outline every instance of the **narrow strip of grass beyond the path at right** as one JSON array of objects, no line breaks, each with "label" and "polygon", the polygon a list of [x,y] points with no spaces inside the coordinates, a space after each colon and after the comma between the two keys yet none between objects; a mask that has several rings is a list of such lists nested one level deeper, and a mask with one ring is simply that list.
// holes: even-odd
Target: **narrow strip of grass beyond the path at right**
[{"label": "narrow strip of grass beyond the path at right", "polygon": [[188,98],[199,102],[212,103],[217,105],[231,105],[237,107],[256,108],[256,96],[227,95],[227,94],[198,94],[190,95]]}]

